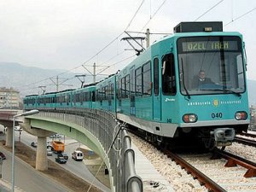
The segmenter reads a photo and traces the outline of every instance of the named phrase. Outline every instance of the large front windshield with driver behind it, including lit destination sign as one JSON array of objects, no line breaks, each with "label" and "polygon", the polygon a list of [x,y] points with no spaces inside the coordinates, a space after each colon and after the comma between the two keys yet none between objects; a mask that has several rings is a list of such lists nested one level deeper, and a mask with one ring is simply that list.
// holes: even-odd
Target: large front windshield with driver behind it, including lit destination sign
[{"label": "large front windshield with driver behind it, including lit destination sign", "polygon": [[239,95],[245,91],[241,38],[178,38],[177,56],[183,95]]}]

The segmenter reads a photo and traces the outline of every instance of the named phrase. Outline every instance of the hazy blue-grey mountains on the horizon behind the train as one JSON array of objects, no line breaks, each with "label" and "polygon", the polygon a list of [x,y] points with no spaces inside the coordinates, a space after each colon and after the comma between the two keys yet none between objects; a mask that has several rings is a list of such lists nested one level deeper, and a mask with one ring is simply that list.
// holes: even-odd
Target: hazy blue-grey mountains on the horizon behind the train
[{"label": "hazy blue-grey mountains on the horizon behind the train", "polygon": [[[15,90],[20,91],[21,97],[32,94],[41,94],[44,89],[47,92],[55,91],[56,74],[64,72],[65,70],[61,69],[43,69],[39,67],[26,67],[15,62],[0,62],[0,87],[13,87]],[[59,79],[59,90],[79,88],[81,82],[79,79],[75,78],[75,75],[75,73],[71,72],[61,74]],[[44,85],[45,82],[47,82],[48,85],[42,87],[41,85]],[[61,82],[65,82],[65,84],[61,84]],[[91,80],[85,79],[85,84],[86,83],[91,83]],[[255,106],[256,80],[247,79],[247,84],[249,104]]]}]

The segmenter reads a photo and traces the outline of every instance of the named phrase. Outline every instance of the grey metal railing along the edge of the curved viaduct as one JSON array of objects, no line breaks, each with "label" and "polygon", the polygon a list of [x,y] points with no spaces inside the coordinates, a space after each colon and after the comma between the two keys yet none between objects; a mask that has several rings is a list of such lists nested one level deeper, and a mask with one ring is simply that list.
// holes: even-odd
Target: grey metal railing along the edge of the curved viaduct
[{"label": "grey metal railing along the edge of the curved viaduct", "polygon": [[37,115],[79,125],[90,131],[97,137],[108,156],[115,191],[143,192],[142,179],[135,170],[131,137],[128,136],[125,126],[119,124],[111,113],[96,109],[41,109]]}]

